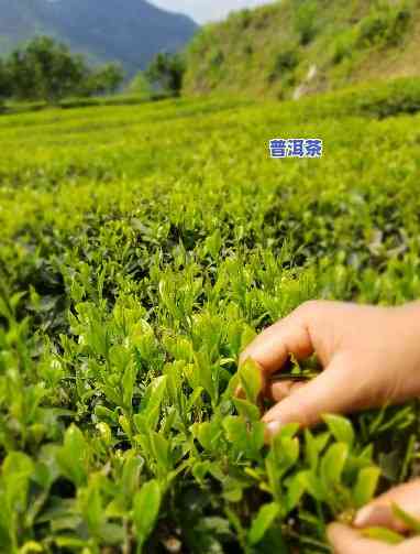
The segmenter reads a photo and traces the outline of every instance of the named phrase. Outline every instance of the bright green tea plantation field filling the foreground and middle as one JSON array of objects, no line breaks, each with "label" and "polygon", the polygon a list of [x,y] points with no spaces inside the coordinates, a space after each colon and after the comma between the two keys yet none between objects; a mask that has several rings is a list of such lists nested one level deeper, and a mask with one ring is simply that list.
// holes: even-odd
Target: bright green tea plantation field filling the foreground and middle
[{"label": "bright green tea plantation field filling the foreground and middle", "polygon": [[420,296],[419,107],[412,80],[1,116],[0,552],[327,553],[418,474],[417,403],[268,448],[236,370],[306,300]]}]

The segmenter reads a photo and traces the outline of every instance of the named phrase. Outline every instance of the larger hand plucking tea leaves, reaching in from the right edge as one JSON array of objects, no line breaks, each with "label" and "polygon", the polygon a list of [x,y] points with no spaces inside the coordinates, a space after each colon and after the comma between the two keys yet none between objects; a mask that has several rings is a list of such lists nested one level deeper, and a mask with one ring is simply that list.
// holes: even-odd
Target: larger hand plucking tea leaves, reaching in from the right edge
[{"label": "larger hand plucking tea leaves, reaching in from the right edge", "polygon": [[[308,383],[269,382],[290,355],[317,354],[324,371]],[[346,413],[420,395],[420,303],[402,307],[311,301],[265,329],[241,355],[256,361],[277,404],[267,432],[323,413]]]}]

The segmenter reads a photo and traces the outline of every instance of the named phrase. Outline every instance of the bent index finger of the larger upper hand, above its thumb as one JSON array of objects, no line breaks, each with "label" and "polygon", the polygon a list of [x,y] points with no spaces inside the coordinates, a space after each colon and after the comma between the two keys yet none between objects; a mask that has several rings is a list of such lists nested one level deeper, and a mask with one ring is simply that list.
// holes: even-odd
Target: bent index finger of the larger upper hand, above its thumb
[{"label": "bent index finger of the larger upper hand, above its thumb", "polygon": [[283,368],[290,355],[302,359],[313,354],[305,313],[305,309],[298,308],[265,329],[242,352],[240,363],[252,358],[266,373],[273,373]]}]

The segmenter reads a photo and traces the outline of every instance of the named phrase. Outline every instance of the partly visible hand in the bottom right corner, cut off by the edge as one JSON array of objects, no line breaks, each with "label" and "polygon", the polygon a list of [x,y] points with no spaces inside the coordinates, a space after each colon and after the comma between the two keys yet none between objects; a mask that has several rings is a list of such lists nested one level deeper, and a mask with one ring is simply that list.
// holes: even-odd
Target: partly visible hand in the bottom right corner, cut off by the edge
[{"label": "partly visible hand in the bottom right corner, cut off by the edge", "polygon": [[[420,518],[420,479],[400,485],[382,495],[358,511],[354,525],[358,529],[368,526],[384,526],[404,533],[407,531],[402,521],[397,519],[393,504],[398,506],[411,517]],[[355,529],[333,523],[328,536],[336,554],[418,554],[420,537],[407,539],[397,546],[372,541],[364,537]]]}]

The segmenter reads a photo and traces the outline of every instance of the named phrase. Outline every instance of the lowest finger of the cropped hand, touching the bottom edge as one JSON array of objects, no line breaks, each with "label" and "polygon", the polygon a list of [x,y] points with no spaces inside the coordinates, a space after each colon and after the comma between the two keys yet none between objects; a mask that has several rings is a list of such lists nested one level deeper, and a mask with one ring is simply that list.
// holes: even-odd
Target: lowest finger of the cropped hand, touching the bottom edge
[{"label": "lowest finger of the cropped hand, touching the bottom edge", "polygon": [[388,544],[365,539],[357,531],[340,523],[330,525],[327,535],[334,548],[334,554],[388,554],[390,552]]}]

